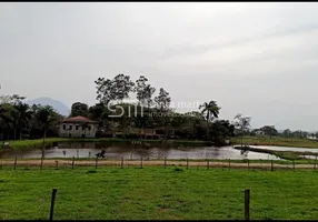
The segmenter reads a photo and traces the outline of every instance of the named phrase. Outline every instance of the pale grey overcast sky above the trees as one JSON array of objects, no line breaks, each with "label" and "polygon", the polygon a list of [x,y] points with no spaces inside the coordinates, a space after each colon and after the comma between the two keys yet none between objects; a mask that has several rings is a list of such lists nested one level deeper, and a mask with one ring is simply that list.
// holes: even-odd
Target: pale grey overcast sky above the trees
[{"label": "pale grey overcast sky above the trees", "polygon": [[175,104],[216,100],[220,118],[316,131],[317,11],[317,3],[0,3],[0,93],[93,104],[97,78],[145,74]]}]

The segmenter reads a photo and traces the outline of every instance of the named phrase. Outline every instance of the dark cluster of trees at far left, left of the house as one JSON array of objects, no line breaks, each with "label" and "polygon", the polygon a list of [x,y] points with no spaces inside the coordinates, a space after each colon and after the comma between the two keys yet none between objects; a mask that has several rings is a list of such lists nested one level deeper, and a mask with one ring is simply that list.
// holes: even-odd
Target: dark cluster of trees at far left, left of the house
[{"label": "dark cluster of trees at far left, left of the house", "polygon": [[24,97],[0,97],[1,140],[22,140],[52,137],[63,119],[52,107],[24,102]]}]

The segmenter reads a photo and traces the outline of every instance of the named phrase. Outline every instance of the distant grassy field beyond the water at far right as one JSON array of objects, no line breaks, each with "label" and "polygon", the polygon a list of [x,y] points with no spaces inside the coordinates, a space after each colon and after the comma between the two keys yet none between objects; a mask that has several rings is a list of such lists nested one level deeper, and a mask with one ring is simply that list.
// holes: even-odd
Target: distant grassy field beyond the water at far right
[{"label": "distant grassy field beyond the water at far right", "polygon": [[[233,144],[240,144],[240,138],[232,138]],[[281,137],[244,137],[244,144],[247,145],[277,145],[292,148],[318,148],[318,141],[309,139],[281,138]]]}]

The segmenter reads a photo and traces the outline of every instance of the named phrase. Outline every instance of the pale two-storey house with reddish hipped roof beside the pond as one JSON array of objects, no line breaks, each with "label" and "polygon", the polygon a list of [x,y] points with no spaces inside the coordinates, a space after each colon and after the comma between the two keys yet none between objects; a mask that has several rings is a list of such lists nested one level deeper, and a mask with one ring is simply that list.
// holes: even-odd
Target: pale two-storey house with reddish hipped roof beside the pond
[{"label": "pale two-storey house with reddish hipped roof beside the pond", "polygon": [[98,123],[85,117],[68,118],[60,123],[60,137],[95,138]]}]

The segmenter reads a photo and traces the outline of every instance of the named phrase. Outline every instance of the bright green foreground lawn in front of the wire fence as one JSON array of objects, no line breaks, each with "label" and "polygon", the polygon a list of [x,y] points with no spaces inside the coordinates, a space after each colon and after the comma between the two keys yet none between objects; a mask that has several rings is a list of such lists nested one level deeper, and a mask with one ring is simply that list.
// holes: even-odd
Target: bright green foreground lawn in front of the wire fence
[{"label": "bright green foreground lawn in front of the wire fence", "polygon": [[170,167],[0,170],[0,220],[317,219],[318,172]]}]

